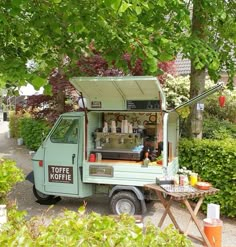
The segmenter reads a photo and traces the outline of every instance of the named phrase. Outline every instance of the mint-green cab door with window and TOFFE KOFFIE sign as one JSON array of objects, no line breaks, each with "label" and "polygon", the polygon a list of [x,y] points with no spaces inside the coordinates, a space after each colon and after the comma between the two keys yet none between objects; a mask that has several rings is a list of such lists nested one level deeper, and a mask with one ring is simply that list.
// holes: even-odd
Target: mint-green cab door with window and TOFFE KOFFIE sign
[{"label": "mint-green cab door with window and TOFFE KOFFIE sign", "polygon": [[79,117],[63,117],[46,142],[44,174],[47,192],[78,194],[79,123]]}]

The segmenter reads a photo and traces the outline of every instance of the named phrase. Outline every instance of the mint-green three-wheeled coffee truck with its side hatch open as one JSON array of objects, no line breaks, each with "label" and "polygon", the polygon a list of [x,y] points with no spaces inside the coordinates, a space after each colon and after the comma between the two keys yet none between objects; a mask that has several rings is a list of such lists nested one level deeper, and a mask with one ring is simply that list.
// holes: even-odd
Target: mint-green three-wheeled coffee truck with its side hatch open
[{"label": "mint-green three-wheeled coffee truck with its side hatch open", "polygon": [[[62,114],[33,156],[33,192],[41,203],[55,197],[107,193],[113,214],[146,211],[145,184],[178,170],[179,116],[214,88],[173,110],[156,77],[78,77],[81,107]],[[162,164],[158,164],[158,157]]]}]

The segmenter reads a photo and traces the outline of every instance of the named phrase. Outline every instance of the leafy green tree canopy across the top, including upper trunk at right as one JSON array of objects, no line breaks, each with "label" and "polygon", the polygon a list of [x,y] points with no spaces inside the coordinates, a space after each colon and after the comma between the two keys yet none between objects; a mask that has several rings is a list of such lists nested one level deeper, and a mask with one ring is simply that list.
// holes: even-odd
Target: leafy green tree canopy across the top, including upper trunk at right
[{"label": "leafy green tree canopy across the top, including upper trunk at right", "polygon": [[47,85],[52,68],[71,71],[92,42],[124,71],[121,55],[132,54],[132,66],[141,59],[148,75],[160,73],[157,64],[181,52],[192,61],[194,96],[204,87],[205,69],[217,81],[224,68],[232,82],[235,17],[236,2],[230,0],[2,0],[0,78],[18,85],[30,81],[37,89]]}]

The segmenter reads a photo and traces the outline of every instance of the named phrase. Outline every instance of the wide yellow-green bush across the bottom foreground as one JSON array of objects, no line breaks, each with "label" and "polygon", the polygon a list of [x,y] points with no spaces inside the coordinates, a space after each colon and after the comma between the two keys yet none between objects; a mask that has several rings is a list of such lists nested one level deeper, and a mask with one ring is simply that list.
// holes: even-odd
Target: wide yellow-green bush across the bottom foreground
[{"label": "wide yellow-green bush across the bottom foreground", "polygon": [[132,216],[114,218],[97,213],[86,214],[84,207],[78,212],[65,210],[64,215],[47,224],[43,216],[26,221],[24,213],[14,208],[8,218],[9,222],[3,226],[0,235],[0,246],[193,246],[172,225],[161,231],[150,224],[143,232]]}]

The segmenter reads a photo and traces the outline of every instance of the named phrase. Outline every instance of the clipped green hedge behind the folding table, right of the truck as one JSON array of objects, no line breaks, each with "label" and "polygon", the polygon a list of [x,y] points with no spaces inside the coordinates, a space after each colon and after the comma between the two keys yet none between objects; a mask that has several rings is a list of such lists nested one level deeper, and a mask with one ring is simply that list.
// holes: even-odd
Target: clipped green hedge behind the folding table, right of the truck
[{"label": "clipped green hedge behind the folding table, right of the truck", "polygon": [[197,172],[203,181],[210,182],[220,192],[209,196],[207,203],[220,205],[221,214],[236,216],[236,140],[186,140],[179,146],[180,166]]}]

